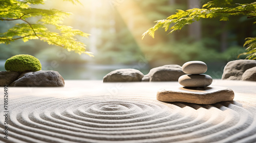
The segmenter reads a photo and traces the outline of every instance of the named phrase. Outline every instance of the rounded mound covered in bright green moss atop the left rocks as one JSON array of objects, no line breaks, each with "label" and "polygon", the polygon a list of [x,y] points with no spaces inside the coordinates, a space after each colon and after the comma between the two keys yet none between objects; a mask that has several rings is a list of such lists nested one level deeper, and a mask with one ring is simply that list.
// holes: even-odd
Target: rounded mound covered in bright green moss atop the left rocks
[{"label": "rounded mound covered in bright green moss atop the left rocks", "polygon": [[5,69],[7,71],[38,71],[41,68],[40,61],[31,55],[15,55],[5,62]]}]

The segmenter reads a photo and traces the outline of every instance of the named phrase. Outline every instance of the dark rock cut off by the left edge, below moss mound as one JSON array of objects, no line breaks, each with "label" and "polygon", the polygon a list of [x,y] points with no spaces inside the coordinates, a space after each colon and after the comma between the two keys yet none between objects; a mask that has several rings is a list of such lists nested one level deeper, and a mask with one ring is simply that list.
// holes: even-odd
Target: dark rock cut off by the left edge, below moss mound
[{"label": "dark rock cut off by the left edge, below moss mound", "polygon": [[0,86],[9,85],[15,81],[19,76],[15,71],[0,71]]}]

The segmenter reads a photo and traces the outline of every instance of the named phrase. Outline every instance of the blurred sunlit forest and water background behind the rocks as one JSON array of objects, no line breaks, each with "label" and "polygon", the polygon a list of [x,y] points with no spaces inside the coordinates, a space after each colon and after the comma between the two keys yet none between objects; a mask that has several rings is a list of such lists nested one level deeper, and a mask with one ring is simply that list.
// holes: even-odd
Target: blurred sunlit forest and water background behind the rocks
[{"label": "blurred sunlit forest and water background behind the rocks", "polygon": [[[11,56],[30,54],[41,61],[42,70],[56,70],[66,80],[99,80],[119,68],[136,68],[147,74],[157,66],[201,60],[208,64],[206,74],[221,78],[228,61],[236,60],[244,52],[246,37],[255,37],[254,19],[233,16],[229,21],[218,18],[204,19],[169,34],[158,30],[155,39],[141,35],[177,9],[201,8],[209,1],[200,0],[82,0],[72,5],[62,0],[46,1],[45,5],[32,7],[59,9],[73,13],[64,20],[65,25],[91,34],[89,38],[77,37],[87,45],[95,57],[75,54],[48,45],[40,40],[0,44],[0,70]],[[234,1],[240,4],[244,1]],[[252,3],[254,1],[246,1]],[[35,18],[29,19],[36,21]],[[21,21],[20,21],[21,22]],[[12,21],[0,21],[0,32],[14,26]],[[245,58],[240,57],[240,58]]]}]

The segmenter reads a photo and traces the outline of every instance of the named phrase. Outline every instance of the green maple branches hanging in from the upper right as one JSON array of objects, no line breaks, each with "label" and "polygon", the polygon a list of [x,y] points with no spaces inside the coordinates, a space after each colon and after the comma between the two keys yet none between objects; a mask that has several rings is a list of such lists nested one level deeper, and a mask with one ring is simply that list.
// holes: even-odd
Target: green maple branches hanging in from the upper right
[{"label": "green maple branches hanging in from the upper right", "polygon": [[[220,17],[220,21],[227,21],[232,15],[247,15],[247,18],[256,17],[256,2],[250,4],[234,4],[232,0],[215,0],[203,5],[202,9],[193,8],[186,11],[177,10],[176,14],[170,15],[167,19],[157,20],[156,25],[148,29],[143,35],[149,34],[154,38],[155,32],[159,28],[164,28],[169,33],[181,30],[185,25],[193,23],[195,20],[202,18]],[[255,24],[253,22],[253,24]],[[256,59],[256,37],[246,38],[244,46],[247,47],[247,52],[240,55],[248,55],[247,59]]]}]

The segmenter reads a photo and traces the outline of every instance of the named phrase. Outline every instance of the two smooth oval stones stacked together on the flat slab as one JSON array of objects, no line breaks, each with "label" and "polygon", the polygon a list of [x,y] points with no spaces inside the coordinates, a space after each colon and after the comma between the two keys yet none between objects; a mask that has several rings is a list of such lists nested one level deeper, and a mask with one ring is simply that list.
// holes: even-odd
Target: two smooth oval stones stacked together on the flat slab
[{"label": "two smooth oval stones stacked together on the flat slab", "polygon": [[189,61],[182,65],[185,74],[179,78],[179,83],[185,87],[207,87],[212,83],[209,75],[204,75],[207,65],[202,61]]}]

